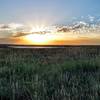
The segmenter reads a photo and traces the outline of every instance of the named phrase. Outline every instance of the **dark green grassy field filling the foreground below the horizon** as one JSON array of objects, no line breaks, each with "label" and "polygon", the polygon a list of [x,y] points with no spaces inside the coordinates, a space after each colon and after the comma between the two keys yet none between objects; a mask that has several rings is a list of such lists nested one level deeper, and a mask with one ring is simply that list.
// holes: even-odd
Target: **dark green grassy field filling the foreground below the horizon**
[{"label": "dark green grassy field filling the foreground below the horizon", "polygon": [[100,46],[0,48],[0,100],[100,100]]}]

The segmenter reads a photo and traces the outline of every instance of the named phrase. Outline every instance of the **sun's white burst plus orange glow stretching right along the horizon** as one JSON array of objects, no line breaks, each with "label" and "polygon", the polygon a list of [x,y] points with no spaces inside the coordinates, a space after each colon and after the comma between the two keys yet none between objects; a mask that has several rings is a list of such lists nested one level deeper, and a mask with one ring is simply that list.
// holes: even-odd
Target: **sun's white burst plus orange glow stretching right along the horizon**
[{"label": "sun's white burst plus orange glow stretching right along the horizon", "polygon": [[[45,25],[32,27],[26,35],[17,37],[18,44],[28,45],[68,45],[68,44],[99,44],[100,34],[75,34],[73,32],[56,32]],[[94,41],[95,40],[95,41]]]}]

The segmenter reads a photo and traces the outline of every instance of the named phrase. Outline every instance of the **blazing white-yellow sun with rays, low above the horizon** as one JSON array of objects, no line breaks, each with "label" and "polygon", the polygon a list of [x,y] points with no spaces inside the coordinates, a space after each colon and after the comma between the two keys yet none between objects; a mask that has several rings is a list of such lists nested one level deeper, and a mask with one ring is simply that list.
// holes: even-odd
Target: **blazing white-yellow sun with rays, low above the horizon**
[{"label": "blazing white-yellow sun with rays, low above the horizon", "polygon": [[35,45],[47,45],[52,42],[54,38],[55,37],[48,32],[47,27],[44,25],[32,27],[30,34],[24,36],[24,40]]}]

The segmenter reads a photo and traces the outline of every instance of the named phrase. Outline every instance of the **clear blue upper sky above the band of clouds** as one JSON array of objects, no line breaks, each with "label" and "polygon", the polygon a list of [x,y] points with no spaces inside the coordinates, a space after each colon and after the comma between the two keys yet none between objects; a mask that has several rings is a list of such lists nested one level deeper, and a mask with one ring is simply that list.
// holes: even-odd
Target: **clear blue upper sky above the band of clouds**
[{"label": "clear blue upper sky above the band of clouds", "polygon": [[100,14],[100,0],[0,0],[0,23]]}]

